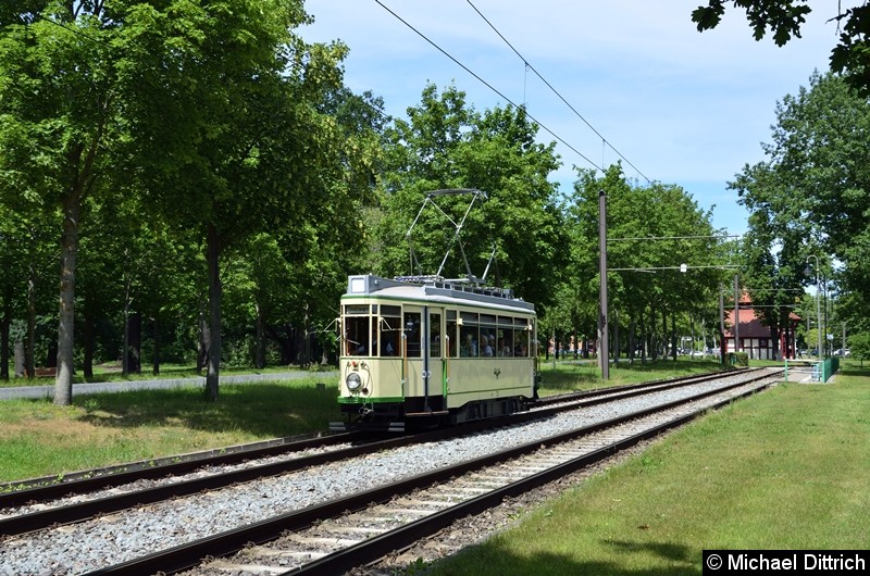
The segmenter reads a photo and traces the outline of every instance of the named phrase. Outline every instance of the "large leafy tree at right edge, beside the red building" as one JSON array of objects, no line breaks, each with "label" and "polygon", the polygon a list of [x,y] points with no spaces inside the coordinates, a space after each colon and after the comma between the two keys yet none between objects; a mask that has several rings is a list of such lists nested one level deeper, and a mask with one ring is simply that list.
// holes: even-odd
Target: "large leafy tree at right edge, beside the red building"
[{"label": "large leafy tree at right edge, beside the red building", "polygon": [[[854,292],[852,316],[870,311],[870,103],[832,74],[813,74],[810,87],[776,104],[766,162],[746,165],[729,187],[753,215],[750,229],[775,247],[781,288],[812,284],[800,274],[816,256],[823,270],[843,264],[838,281]],[[831,278],[830,273],[825,273]],[[850,321],[850,325],[858,322]]]}]

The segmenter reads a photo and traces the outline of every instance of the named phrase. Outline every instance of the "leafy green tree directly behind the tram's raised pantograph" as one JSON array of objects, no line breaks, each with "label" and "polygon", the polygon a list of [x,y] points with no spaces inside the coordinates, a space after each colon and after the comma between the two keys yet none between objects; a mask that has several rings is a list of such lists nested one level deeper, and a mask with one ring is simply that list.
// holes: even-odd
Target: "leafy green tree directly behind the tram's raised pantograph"
[{"label": "leafy green tree directly behind the tram's raised pantograph", "polygon": [[444,197],[440,210],[421,214],[411,241],[422,271],[410,268],[405,235],[425,192],[476,188],[487,198],[469,213],[461,230],[472,275],[482,276],[495,254],[487,281],[538,304],[550,302],[557,250],[564,243],[556,187],[547,180],[558,167],[554,145],[535,142],[537,126],[523,109],[478,114],[455,87],[438,93],[427,86],[408,115],[385,130],[384,217],[375,239],[381,255],[375,268],[388,276],[435,274],[449,249],[443,275],[468,276],[453,243],[468,197]]}]

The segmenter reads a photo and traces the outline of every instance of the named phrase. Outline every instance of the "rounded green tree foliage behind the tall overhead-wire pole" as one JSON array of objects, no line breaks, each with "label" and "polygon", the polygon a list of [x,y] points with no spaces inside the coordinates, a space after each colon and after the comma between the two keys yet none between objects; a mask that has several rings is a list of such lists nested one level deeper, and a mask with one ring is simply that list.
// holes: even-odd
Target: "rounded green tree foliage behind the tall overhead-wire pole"
[{"label": "rounded green tree foliage behind the tall overhead-wire pole", "polygon": [[[710,323],[714,318],[709,302],[722,278],[714,266],[728,262],[723,242],[713,238],[711,213],[700,210],[680,187],[633,185],[619,164],[604,175],[581,171],[567,208],[571,235],[567,284],[574,287],[577,316],[586,310],[583,315],[588,317],[589,304],[598,302],[600,190],[607,195],[608,268],[621,268],[608,274],[611,327],[616,333],[620,324],[627,326],[630,358],[637,348],[634,335],[638,326],[641,341],[649,345],[641,347],[644,359],[647,350],[654,358],[664,350],[668,335],[675,350],[672,339],[678,316]],[[687,265],[685,273],[680,272],[682,264]],[[619,340],[612,338],[616,355],[621,349]]]}]

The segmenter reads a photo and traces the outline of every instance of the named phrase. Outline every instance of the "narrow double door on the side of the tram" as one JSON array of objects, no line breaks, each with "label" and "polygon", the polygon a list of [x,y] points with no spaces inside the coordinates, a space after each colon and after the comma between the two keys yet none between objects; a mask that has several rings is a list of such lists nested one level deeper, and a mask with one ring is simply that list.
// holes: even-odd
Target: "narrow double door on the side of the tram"
[{"label": "narrow double door on the side of the tram", "polygon": [[405,306],[405,409],[409,415],[446,410],[443,320],[442,308]]}]

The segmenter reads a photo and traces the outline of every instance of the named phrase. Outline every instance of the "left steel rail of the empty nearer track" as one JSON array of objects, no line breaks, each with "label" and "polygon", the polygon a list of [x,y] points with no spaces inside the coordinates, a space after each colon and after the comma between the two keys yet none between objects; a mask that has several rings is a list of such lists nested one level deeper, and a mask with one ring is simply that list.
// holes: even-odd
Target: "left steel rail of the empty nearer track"
[{"label": "left steel rail of the empty nearer track", "polygon": [[[543,443],[552,444],[558,442],[563,442],[567,440],[572,440],[584,435],[588,435],[608,427],[623,424],[631,420],[636,420],[638,417],[652,414],[655,412],[668,410],[670,408],[675,408],[681,404],[700,400],[709,396],[722,393],[733,388],[746,386],[747,384],[757,381],[759,379],[769,378],[770,376],[771,376],[770,374],[759,375],[741,383],[729,384],[725,386],[718,387],[713,390],[707,390],[705,392],[693,395],[692,397],[674,400],[671,402],[666,402],[663,404],[635,411],[631,414],[624,414],[622,416],[610,418],[608,421],[584,426],[564,434],[554,436],[545,440],[535,440],[533,442],[529,442],[508,450],[487,454],[480,459],[469,460],[452,466],[447,466],[430,473],[420,474],[410,478],[406,478],[403,480],[399,480],[394,484],[385,485],[382,487],[373,488],[371,490],[366,490],[364,492],[360,492],[359,494],[344,497],[337,500],[325,502],[323,504],[311,505],[299,511],[282,514],[273,518],[268,518],[233,530],[226,530],[224,533],[204,539],[200,539],[194,542],[188,542],[185,544],[179,544],[166,550],[148,554],[146,556],[123,562],[121,564],[107,566],[104,568],[87,573],[86,576],[97,576],[97,575],[104,576],[104,575],[115,575],[115,574],[119,575],[154,574],[154,573],[176,574],[184,569],[189,569],[199,565],[200,559],[202,558],[227,556],[229,554],[233,554],[241,550],[244,547],[250,543],[261,544],[263,542],[274,540],[278,536],[281,536],[281,534],[284,531],[298,530],[307,526],[310,526],[316,521],[323,521],[328,517],[338,516],[348,511],[351,512],[358,511],[366,505],[387,501],[397,494],[406,493],[418,488],[430,486],[433,483],[444,481],[451,477],[460,476],[462,474],[465,474],[474,469],[490,466],[505,460],[511,460],[519,455],[534,452],[538,450]],[[747,392],[747,395],[748,393],[750,392]],[[730,401],[731,400],[726,400],[723,401],[723,403]],[[700,412],[706,412],[707,410],[710,409],[706,408]],[[419,537],[420,536],[418,535],[415,538]],[[378,538],[372,538],[371,540],[376,541],[378,540]],[[356,549],[357,547],[361,547],[363,543],[356,544],[352,548]],[[366,552],[365,554],[368,555],[365,558],[371,556],[371,554],[373,553],[383,555],[383,553],[380,551]],[[338,554],[340,554],[340,552]],[[327,574],[327,573],[337,573],[340,572],[340,569],[344,569],[339,567],[336,567],[335,571],[333,571],[332,568],[326,569],[325,563],[331,562],[327,560],[328,558],[330,556],[325,556],[324,559],[322,559],[323,561],[322,563],[320,563],[321,561],[318,561],[319,563],[314,563],[316,564],[316,566],[319,566],[319,568],[315,569],[314,572]],[[352,560],[353,566],[371,561],[371,560],[360,561],[359,560],[360,558],[363,556],[360,555],[357,556],[355,560]],[[372,556],[372,560],[375,560],[376,558],[380,558],[380,555]],[[340,562],[346,563],[348,561],[344,560]],[[336,564],[336,566],[338,565],[344,565],[344,564],[341,563]],[[293,572],[290,572],[290,574],[291,573]]]}]

